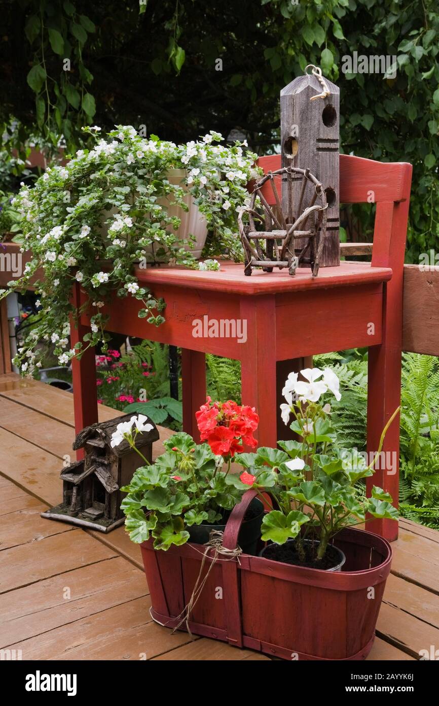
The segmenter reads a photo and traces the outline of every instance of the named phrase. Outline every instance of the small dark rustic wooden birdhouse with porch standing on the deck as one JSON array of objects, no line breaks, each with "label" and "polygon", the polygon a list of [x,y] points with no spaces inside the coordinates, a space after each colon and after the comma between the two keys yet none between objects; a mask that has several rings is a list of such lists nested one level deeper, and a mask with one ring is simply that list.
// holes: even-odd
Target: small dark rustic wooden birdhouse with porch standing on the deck
[{"label": "small dark rustic wooden birdhouse with porch standing on the deck", "polygon": [[[120,488],[130,484],[135,470],[144,462],[127,441],[111,448],[111,434],[120,422],[129,421],[131,417],[131,414],[125,414],[80,431],[73,450],[83,448],[85,457],[63,468],[63,502],[42,513],[42,517],[100,532],[110,532],[123,524],[120,503],[125,493],[121,493]],[[153,429],[137,433],[135,445],[151,462],[152,443],[159,438],[159,432],[154,422],[149,419],[148,423]]]}]

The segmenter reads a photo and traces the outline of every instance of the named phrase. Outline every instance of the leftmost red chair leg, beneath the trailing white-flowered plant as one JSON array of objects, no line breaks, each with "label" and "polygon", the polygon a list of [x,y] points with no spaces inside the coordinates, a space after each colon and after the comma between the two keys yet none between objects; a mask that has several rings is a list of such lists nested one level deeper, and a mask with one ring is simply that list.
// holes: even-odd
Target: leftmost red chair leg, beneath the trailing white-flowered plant
[{"label": "leftmost red chair leg, beneath the trailing white-flowered plant", "polygon": [[[73,285],[72,292],[73,306],[78,309],[80,306],[80,284]],[[83,340],[89,327],[82,321],[75,321],[70,316],[70,344],[73,348],[78,341]],[[98,421],[97,416],[97,389],[96,389],[96,364],[94,348],[89,348],[80,361],[72,360],[73,378],[73,406],[75,409],[75,432],[79,433],[89,424]],[[84,457],[84,449],[78,449],[76,458],[80,460]]]}]

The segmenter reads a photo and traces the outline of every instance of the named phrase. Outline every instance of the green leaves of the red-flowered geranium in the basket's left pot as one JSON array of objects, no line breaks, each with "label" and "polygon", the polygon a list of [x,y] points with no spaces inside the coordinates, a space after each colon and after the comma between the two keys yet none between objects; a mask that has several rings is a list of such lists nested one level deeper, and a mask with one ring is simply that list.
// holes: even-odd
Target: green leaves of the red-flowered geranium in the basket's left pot
[{"label": "green leaves of the red-flowered geranium in the basket's left pot", "polygon": [[166,453],[154,465],[138,468],[123,487],[128,495],[121,508],[132,542],[146,542],[151,534],[154,549],[166,551],[187,542],[185,527],[221,522],[248,486],[229,483],[228,471],[221,472],[222,457],[206,443],[196,445],[189,434],[175,434],[163,445]]}]

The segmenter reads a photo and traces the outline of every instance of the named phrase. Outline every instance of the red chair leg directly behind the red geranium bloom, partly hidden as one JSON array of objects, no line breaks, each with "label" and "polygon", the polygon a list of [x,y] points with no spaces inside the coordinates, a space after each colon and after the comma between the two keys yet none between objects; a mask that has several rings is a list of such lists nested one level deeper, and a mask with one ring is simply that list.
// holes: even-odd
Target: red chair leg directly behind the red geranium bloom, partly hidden
[{"label": "red chair leg directly behind the red geranium bloom, partly hidden", "polygon": [[206,356],[198,351],[181,349],[183,378],[183,429],[199,443],[195,412],[206,402]]}]

